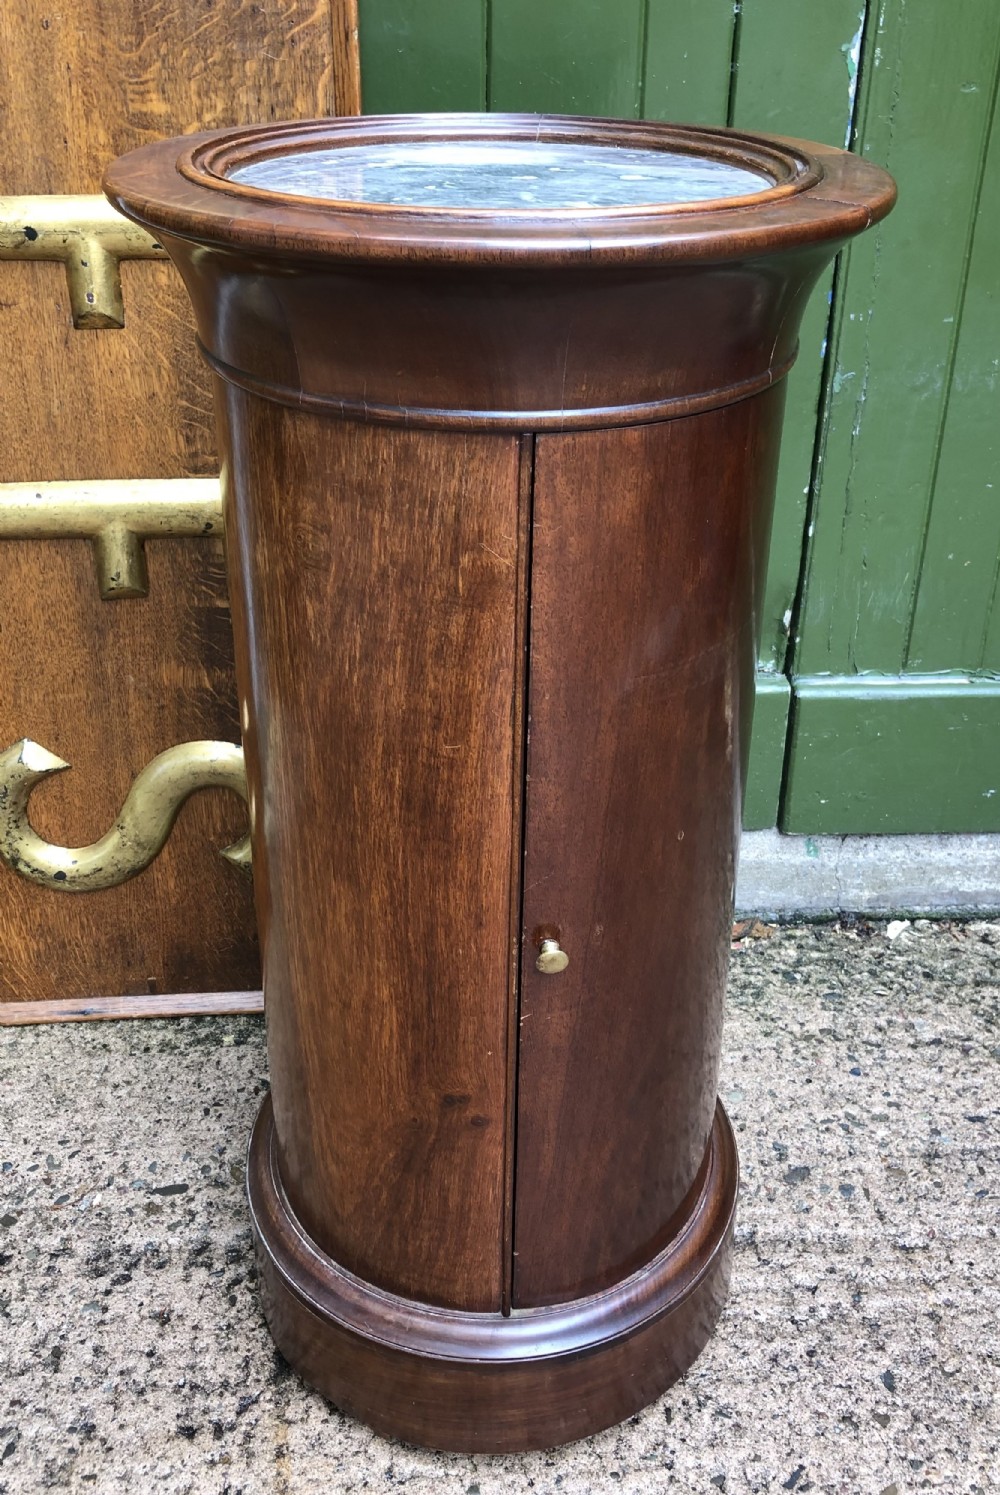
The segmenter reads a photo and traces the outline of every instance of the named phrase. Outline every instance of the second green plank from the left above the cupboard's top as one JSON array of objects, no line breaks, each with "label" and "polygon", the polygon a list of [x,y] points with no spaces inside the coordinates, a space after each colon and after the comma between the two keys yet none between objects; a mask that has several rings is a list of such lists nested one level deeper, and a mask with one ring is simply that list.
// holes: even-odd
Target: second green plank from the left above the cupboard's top
[{"label": "second green plank from the left above the cupboard's top", "polygon": [[490,109],[635,118],[644,0],[492,0]]}]

